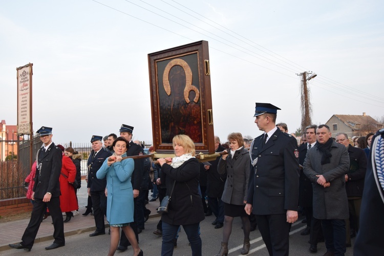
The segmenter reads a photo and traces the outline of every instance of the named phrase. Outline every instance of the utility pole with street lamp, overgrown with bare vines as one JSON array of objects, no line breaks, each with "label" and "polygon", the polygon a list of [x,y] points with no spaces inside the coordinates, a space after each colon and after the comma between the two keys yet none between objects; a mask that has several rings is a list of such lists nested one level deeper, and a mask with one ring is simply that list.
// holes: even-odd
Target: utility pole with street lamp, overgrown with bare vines
[{"label": "utility pole with street lamp, overgrown with bare vines", "polygon": [[[302,132],[305,131],[305,127],[308,125],[311,125],[311,115],[312,115],[312,105],[309,100],[309,89],[307,87],[307,81],[311,80],[312,78],[316,77],[317,75],[312,72],[303,72],[300,74],[296,74],[297,76],[303,76],[302,84],[300,86],[300,94],[301,94],[301,104],[300,109],[302,111],[302,123],[301,123],[301,130]],[[311,75],[307,78],[307,75]]]}]

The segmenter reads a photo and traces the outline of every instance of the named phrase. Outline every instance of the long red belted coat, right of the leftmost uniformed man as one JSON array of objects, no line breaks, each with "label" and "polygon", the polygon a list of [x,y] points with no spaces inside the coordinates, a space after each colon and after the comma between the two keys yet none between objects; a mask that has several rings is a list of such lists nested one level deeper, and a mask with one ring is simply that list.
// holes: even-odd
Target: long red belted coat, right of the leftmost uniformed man
[{"label": "long red belted coat, right of the leftmost uniformed man", "polygon": [[[62,174],[67,176],[64,177]],[[76,178],[76,166],[73,164],[71,158],[68,156],[62,156],[62,166],[60,174],[60,208],[61,212],[71,212],[77,210],[77,198],[73,185],[69,182],[75,181]]]}]

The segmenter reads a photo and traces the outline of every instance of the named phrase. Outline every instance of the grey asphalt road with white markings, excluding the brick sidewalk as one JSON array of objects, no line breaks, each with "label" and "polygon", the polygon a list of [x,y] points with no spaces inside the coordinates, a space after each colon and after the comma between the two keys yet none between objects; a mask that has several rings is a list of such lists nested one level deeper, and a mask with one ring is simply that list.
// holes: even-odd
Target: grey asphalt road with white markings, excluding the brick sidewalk
[{"label": "grey asphalt road with white markings, excluding the brick sidewalk", "polygon": [[[214,221],[214,216],[206,217],[201,222],[201,239],[203,241],[203,255],[216,255],[220,250],[220,242],[222,241],[223,229],[215,229],[210,223]],[[144,252],[144,255],[160,255],[161,250],[161,237],[152,234],[156,229],[159,217],[151,218],[145,223],[145,230],[139,235],[139,245]],[[310,253],[309,249],[309,236],[301,236],[300,232],[305,228],[305,224],[297,221],[292,225],[290,235],[290,255],[323,255],[326,252],[325,244],[319,243],[317,253]],[[108,234],[108,230],[107,234]],[[243,244],[243,230],[241,229],[241,220],[236,218],[233,221],[232,234],[229,239],[229,255],[241,255],[240,251]],[[2,255],[106,255],[109,249],[110,237],[109,235],[102,235],[98,237],[89,237],[91,232],[78,234],[66,237],[66,246],[60,247],[55,250],[45,250],[52,241],[36,243],[31,252],[24,250],[10,249],[2,251]],[[190,255],[190,246],[185,232],[179,234],[177,248],[174,250],[174,255]],[[261,239],[259,230],[251,232],[251,249],[248,255],[267,256],[268,252],[265,248],[264,242]],[[354,240],[352,240],[353,244]],[[353,255],[352,248],[347,248],[345,255]],[[132,248],[125,252],[116,252],[115,255],[132,255]]]}]

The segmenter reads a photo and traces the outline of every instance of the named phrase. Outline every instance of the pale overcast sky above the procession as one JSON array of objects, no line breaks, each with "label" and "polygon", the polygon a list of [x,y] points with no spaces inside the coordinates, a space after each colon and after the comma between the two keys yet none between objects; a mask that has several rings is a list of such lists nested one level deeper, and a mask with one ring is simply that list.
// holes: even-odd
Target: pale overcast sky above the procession
[{"label": "pale overcast sky above the procession", "polygon": [[215,134],[260,135],[254,103],[300,127],[297,73],[309,81],[312,121],[384,115],[384,2],[4,1],[0,8],[0,119],[17,123],[16,67],[33,63],[33,128],[53,141],[134,126],[152,141],[147,54],[209,43]]}]

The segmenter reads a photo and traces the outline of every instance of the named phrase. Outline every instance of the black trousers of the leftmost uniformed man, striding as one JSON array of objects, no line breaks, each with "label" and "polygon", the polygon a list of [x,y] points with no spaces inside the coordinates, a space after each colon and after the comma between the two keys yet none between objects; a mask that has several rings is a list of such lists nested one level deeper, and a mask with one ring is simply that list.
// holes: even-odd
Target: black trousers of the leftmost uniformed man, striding
[{"label": "black trousers of the leftmost uniformed man, striding", "polygon": [[53,221],[53,238],[55,239],[54,243],[66,243],[64,238],[64,223],[62,220],[59,197],[53,197],[49,202],[43,202],[42,199],[35,198],[31,219],[22,237],[21,244],[25,247],[32,248],[37,235],[37,231],[39,230],[41,224],[42,216],[44,215],[47,207]]}]

